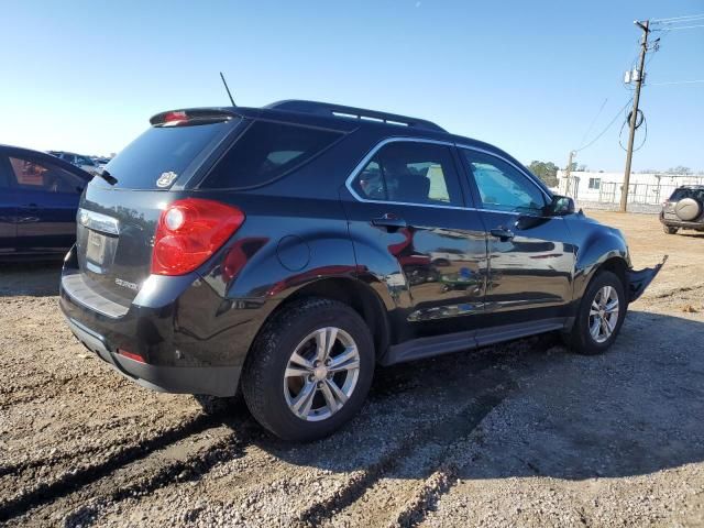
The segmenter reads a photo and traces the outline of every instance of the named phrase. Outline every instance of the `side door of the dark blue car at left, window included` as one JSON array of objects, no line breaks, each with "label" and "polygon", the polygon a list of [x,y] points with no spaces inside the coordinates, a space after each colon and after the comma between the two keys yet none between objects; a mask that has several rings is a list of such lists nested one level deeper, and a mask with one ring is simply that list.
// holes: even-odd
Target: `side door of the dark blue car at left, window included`
[{"label": "side door of the dark blue car at left, window included", "polygon": [[76,240],[76,211],[87,182],[43,158],[10,154],[11,185],[20,197],[16,248],[61,253]]}]

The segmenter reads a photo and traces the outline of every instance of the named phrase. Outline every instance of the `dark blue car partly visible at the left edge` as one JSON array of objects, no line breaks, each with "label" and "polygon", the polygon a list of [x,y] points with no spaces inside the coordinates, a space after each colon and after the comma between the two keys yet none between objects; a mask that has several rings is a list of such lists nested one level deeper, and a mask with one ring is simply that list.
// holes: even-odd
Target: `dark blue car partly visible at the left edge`
[{"label": "dark blue car partly visible at the left edge", "polygon": [[0,145],[0,258],[65,254],[91,175],[43,152]]}]

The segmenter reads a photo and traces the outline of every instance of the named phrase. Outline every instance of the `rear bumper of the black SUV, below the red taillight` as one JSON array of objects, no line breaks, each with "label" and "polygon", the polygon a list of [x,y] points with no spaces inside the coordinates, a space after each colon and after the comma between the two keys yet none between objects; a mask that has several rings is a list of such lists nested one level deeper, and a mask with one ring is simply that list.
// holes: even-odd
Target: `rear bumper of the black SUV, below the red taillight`
[{"label": "rear bumper of the black SUV, below the red taillight", "polygon": [[[264,302],[223,298],[197,274],[151,276],[134,300],[117,309],[90,280],[76,280],[69,252],[59,306],[74,334],[118,372],[170,393],[233,396],[244,360],[266,317]],[[129,351],[144,363],[119,354]]]}]

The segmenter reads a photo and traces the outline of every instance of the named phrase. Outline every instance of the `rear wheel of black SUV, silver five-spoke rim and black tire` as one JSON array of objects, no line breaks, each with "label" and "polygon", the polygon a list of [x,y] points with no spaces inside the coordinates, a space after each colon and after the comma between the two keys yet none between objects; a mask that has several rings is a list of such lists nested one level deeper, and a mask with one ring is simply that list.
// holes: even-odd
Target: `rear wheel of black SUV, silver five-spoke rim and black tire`
[{"label": "rear wheel of black SUV, silver five-spoke rim and black tire", "polygon": [[284,440],[332,433],[360,409],[374,374],[364,320],[337,300],[294,301],[260,332],[242,373],[254,418]]}]

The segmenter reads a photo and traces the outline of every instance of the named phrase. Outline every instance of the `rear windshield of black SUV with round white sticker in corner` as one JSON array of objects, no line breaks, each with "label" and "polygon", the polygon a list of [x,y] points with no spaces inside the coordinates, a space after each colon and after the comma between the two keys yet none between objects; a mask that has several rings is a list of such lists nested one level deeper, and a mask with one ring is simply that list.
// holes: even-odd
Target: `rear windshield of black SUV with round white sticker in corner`
[{"label": "rear windshield of black SUV with round white sticker in corner", "polygon": [[179,176],[196,168],[190,167],[194,161],[215,146],[231,130],[233,121],[152,127],[112,158],[106,170],[118,179],[114,184],[118,188],[168,188]]}]

